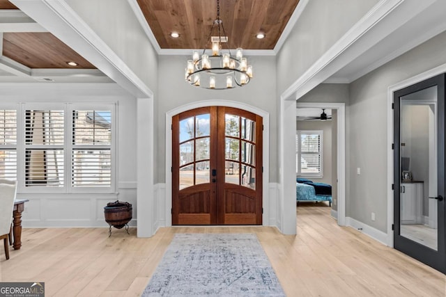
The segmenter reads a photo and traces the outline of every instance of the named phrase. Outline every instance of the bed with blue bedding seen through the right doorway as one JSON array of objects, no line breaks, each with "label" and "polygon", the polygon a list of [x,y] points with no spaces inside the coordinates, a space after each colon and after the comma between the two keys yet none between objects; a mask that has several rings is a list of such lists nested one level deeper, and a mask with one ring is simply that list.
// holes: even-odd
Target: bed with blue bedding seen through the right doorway
[{"label": "bed with blue bedding seen through the right doorway", "polygon": [[330,186],[330,184],[298,178],[295,183],[295,193],[298,204],[301,201],[328,201],[330,207],[332,205],[332,186]]}]

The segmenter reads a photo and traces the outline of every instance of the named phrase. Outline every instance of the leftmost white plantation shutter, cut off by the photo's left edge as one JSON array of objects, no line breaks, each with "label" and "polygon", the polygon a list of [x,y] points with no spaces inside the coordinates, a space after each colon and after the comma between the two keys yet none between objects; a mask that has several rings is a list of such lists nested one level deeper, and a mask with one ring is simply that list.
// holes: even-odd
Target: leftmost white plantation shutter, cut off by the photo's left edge
[{"label": "leftmost white plantation shutter, cut off by the photo's left edge", "polygon": [[0,178],[17,179],[17,110],[1,107]]}]

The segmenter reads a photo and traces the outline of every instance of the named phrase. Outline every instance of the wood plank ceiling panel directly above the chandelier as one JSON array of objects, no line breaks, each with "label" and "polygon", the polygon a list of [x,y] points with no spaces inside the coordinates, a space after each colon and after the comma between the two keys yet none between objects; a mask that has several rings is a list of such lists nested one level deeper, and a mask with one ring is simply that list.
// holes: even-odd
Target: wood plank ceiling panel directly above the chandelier
[{"label": "wood plank ceiling panel directly above the chandelier", "polygon": [[[210,27],[217,17],[217,1],[137,1],[162,49],[201,49],[206,45]],[[220,19],[229,37],[229,47],[274,49],[298,2],[220,0]],[[173,31],[178,32],[180,38],[171,38]],[[255,37],[260,31],[266,34],[263,40]],[[217,35],[217,31],[213,35]]]}]

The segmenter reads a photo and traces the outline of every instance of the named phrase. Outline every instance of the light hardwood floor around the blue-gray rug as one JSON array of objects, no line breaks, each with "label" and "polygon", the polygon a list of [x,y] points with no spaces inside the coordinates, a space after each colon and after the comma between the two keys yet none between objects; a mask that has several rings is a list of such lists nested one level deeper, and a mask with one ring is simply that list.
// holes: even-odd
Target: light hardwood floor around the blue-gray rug
[{"label": "light hardwood floor around the blue-gray rug", "polygon": [[0,246],[0,281],[45,282],[45,296],[140,296],[175,233],[256,233],[287,296],[446,296],[445,275],[350,227],[330,208],[301,204],[298,235],[274,227],[24,229],[22,249]]}]

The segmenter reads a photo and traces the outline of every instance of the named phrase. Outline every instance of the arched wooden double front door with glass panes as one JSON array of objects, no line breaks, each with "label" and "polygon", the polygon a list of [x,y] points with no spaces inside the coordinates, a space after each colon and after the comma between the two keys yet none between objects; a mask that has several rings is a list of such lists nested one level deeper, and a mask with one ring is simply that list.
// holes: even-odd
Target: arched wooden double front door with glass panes
[{"label": "arched wooden double front door with glass panes", "polygon": [[259,115],[224,106],[172,120],[172,225],[261,225]]}]

